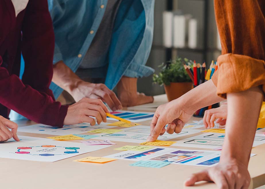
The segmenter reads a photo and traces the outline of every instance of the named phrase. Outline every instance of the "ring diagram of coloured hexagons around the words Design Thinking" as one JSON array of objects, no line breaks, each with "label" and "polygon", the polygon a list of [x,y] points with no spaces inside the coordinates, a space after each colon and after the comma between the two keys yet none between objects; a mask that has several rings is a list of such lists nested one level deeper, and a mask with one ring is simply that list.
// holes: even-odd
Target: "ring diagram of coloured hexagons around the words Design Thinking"
[{"label": "ring diagram of coloured hexagons around the words Design Thinking", "polygon": [[56,156],[79,153],[79,147],[62,147],[55,145],[42,145],[30,147],[18,147],[16,154],[27,154],[35,156]]}]

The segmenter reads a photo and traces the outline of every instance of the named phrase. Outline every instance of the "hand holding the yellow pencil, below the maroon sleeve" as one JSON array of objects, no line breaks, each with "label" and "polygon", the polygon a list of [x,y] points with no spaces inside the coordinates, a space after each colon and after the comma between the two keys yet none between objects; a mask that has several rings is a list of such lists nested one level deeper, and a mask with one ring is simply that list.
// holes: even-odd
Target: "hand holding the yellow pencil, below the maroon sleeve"
[{"label": "hand holding the yellow pencil, below the maroon sleeve", "polygon": [[102,121],[107,122],[106,112],[109,113],[109,110],[101,100],[82,98],[68,107],[63,124],[73,125],[88,122],[94,126],[96,122],[89,116],[95,117],[97,123],[100,124]]}]

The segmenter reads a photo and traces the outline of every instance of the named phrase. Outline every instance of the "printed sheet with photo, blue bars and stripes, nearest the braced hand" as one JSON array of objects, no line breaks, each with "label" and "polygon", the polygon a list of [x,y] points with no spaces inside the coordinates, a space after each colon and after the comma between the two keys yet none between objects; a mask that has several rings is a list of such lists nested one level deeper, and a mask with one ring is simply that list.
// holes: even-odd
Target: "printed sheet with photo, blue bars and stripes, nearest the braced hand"
[{"label": "printed sheet with photo, blue bars and stripes, nearest the braced hand", "polygon": [[[221,152],[217,151],[154,147],[144,152],[127,150],[105,157],[131,161],[156,160],[171,164],[212,167],[219,162],[220,154]],[[251,154],[251,157],[254,155],[256,154]]]}]

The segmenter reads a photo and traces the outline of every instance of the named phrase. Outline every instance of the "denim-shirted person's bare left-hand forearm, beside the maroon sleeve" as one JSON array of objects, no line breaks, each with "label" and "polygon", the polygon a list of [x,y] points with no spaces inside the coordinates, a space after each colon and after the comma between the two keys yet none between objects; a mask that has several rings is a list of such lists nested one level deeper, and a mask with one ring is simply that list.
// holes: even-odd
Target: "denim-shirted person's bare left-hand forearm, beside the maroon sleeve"
[{"label": "denim-shirted person's bare left-hand forearm, beside the maroon sleeve", "polygon": [[52,81],[70,94],[73,89],[83,82],[63,61],[53,65]]}]

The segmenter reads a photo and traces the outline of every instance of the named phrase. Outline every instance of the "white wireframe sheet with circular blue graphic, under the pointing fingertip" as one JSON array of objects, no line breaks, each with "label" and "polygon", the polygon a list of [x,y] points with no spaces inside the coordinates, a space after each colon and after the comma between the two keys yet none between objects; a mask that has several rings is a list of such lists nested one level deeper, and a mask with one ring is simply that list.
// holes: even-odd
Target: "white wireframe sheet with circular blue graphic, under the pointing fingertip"
[{"label": "white wireframe sheet with circular blue graphic, under the pointing fingertip", "polygon": [[[146,139],[150,135],[150,127],[149,126],[134,126],[130,128],[122,129],[123,131],[113,133],[113,134],[107,134],[107,133],[98,133],[95,134],[98,137],[96,139],[100,140],[113,140],[113,141],[121,141],[121,142],[135,142],[135,143],[142,143],[146,142]],[[168,134],[165,132],[164,135],[158,136],[158,140],[170,140],[173,138],[178,138],[182,136],[186,136],[189,134],[198,133],[201,130],[196,129],[183,129],[179,134]]]}]

